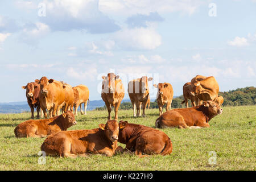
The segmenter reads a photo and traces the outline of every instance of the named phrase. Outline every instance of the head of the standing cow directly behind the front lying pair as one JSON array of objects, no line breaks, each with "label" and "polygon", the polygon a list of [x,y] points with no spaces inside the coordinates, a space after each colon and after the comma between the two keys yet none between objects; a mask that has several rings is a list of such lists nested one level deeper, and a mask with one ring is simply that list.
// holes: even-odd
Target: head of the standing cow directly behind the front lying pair
[{"label": "head of the standing cow directly behind the front lying pair", "polygon": [[102,76],[102,92],[104,93],[114,93],[115,92],[115,80],[119,79],[118,75],[115,73],[108,73],[108,76]]}]

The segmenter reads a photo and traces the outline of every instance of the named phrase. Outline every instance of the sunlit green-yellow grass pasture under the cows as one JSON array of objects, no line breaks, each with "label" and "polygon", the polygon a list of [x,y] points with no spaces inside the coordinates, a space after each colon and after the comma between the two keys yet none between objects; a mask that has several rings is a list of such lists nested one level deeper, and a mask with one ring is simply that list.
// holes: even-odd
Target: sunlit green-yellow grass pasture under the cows
[{"label": "sunlit green-yellow grass pasture under the cows", "polygon": [[[30,119],[30,113],[0,114],[0,170],[255,170],[256,106],[224,107],[208,129],[163,129],[173,144],[168,156],[138,158],[132,154],[86,158],[46,156],[38,164],[45,138],[15,138],[14,128]],[[112,113],[113,114],[113,113]],[[132,110],[120,110],[119,120],[155,127],[157,109],[146,110],[146,118],[134,118]],[[93,129],[106,122],[107,111],[78,115],[78,124],[68,130]],[[121,146],[124,147],[123,144]],[[210,151],[216,164],[209,164]]]}]

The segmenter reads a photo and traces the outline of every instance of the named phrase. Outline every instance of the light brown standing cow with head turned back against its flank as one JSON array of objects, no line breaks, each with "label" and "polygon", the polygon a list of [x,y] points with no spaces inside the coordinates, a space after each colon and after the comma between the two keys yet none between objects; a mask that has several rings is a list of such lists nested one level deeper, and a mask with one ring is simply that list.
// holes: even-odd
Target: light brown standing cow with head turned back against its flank
[{"label": "light brown standing cow with head turned back against its flank", "polygon": [[[197,78],[199,77],[199,78]],[[195,94],[200,101],[214,101],[217,102],[219,86],[218,82],[213,76],[203,78],[202,76],[196,76],[195,80],[191,80],[193,90],[191,94]]]}]

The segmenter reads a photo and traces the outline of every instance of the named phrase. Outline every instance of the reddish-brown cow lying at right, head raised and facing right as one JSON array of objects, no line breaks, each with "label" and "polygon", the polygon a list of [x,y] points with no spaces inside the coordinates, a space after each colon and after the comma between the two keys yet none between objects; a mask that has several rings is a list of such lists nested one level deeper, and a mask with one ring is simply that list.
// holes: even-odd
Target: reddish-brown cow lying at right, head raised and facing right
[{"label": "reddish-brown cow lying at right, head raised and facing right", "polygon": [[210,119],[221,114],[222,111],[216,102],[204,101],[203,105],[174,109],[163,113],[156,119],[155,127],[179,127],[181,129],[210,127],[208,123]]}]

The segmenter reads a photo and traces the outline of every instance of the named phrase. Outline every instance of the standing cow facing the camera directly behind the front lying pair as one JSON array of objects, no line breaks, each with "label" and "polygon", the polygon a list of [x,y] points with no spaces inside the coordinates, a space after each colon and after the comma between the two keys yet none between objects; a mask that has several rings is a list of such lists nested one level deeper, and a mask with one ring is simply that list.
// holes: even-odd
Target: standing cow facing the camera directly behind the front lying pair
[{"label": "standing cow facing the camera directly behind the front lying pair", "polygon": [[105,102],[106,107],[108,108],[109,116],[108,119],[111,119],[111,110],[112,106],[115,109],[115,120],[118,119],[118,108],[121,104],[123,97],[125,97],[125,89],[119,76],[114,73],[108,73],[108,76],[102,76],[102,91],[101,98]]}]

